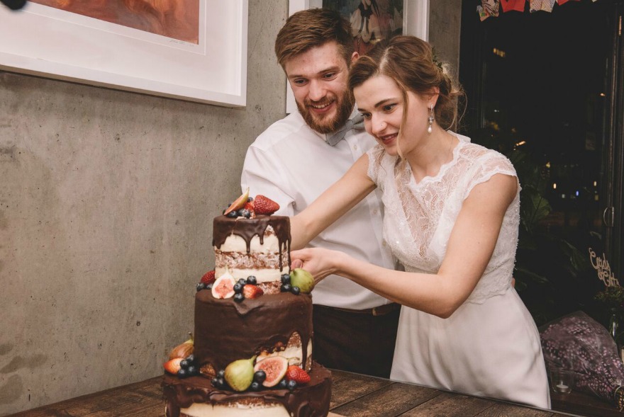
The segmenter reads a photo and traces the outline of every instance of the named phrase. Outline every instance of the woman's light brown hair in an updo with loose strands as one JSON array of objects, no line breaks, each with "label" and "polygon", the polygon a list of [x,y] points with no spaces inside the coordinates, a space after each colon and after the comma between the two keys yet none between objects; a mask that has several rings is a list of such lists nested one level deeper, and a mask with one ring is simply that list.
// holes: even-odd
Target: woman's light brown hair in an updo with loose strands
[{"label": "woman's light brown hair in an updo with loose strands", "polygon": [[[464,96],[462,88],[455,86],[441,63],[434,61],[431,45],[414,36],[395,36],[379,42],[367,55],[352,64],[349,88],[361,86],[364,81],[377,75],[389,76],[401,89],[403,103],[408,105],[407,92],[427,97],[433,89],[440,89],[440,96],[433,109],[435,122],[444,130],[457,123],[458,98]],[[408,112],[403,112],[403,124]]]}]

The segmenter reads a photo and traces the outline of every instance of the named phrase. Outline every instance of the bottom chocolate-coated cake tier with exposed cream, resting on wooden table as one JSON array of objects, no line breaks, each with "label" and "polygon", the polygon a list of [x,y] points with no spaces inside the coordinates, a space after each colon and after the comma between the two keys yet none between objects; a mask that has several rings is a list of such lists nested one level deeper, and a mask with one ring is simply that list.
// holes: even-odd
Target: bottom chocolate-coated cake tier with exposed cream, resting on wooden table
[{"label": "bottom chocolate-coated cake tier with exposed cream, resting on wooden table", "polygon": [[217,389],[211,379],[165,375],[162,388],[167,417],[325,417],[331,399],[331,372],[313,362],[311,381],[288,389],[233,392]]}]

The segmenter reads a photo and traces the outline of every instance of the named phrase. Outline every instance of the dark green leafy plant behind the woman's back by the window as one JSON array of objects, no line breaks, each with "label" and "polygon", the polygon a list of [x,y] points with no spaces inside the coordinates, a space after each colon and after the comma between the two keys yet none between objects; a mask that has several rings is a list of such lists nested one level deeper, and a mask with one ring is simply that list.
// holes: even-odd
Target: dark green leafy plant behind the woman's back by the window
[{"label": "dark green leafy plant behind the woman's back by the window", "polygon": [[530,152],[518,147],[515,132],[503,134],[496,125],[478,132],[473,142],[496,149],[510,159],[518,173],[520,229],[516,251],[516,290],[538,326],[583,310],[596,316],[593,295],[600,283],[586,256],[572,242],[547,226],[552,205],[547,198],[547,169]]}]

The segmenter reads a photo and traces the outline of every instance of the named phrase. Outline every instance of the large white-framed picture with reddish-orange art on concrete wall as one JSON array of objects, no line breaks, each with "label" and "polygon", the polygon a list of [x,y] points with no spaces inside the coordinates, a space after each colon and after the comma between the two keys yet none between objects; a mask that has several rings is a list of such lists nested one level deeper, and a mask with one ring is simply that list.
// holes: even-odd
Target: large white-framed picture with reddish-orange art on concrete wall
[{"label": "large white-framed picture with reddish-orange art on concrete wall", "polygon": [[244,106],[248,0],[32,0],[0,7],[0,69]]}]

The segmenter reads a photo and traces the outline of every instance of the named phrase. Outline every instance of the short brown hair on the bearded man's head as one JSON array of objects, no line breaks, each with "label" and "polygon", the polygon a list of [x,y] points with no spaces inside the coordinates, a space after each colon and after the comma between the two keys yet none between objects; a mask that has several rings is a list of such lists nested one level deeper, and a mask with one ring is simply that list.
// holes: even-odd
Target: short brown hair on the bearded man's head
[{"label": "short brown hair on the bearded man's head", "polygon": [[275,40],[275,55],[284,68],[284,64],[292,57],[330,41],[338,43],[340,53],[348,66],[353,54],[349,21],[342,18],[337,11],[308,8],[294,13],[286,20]]}]

